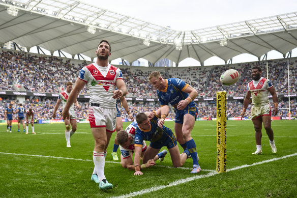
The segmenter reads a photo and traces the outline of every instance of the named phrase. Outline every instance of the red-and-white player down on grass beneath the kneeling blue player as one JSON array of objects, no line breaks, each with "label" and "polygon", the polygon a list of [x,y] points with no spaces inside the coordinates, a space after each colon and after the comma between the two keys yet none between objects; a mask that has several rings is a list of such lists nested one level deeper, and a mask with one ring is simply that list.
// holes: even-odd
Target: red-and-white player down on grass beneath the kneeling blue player
[{"label": "red-and-white player down on grass beneath the kneeling blue player", "polygon": [[[132,160],[132,155],[134,152],[134,135],[135,129],[137,127],[137,122],[131,123],[126,130],[118,131],[116,134],[116,139],[118,144],[120,144],[120,151],[121,151],[121,164],[123,168],[128,168],[130,170],[134,170],[134,164]],[[141,158],[147,155],[146,149],[147,146],[145,141],[143,140],[142,150],[141,150]],[[164,160],[165,155],[167,154],[167,150],[163,150],[162,152],[158,153],[154,156],[154,159],[148,160],[145,164],[141,165],[141,169],[148,168],[155,165],[155,161],[159,159],[160,161]]]}]

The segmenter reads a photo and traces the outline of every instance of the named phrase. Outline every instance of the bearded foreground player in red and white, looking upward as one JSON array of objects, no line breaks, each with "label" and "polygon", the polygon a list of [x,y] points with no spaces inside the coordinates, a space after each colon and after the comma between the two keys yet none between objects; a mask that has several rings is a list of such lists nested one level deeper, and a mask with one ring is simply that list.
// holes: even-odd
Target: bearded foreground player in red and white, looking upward
[{"label": "bearded foreground player in red and white, looking upward", "polygon": [[104,165],[106,149],[111,134],[115,131],[116,99],[127,94],[121,70],[108,63],[110,52],[111,47],[108,41],[100,41],[96,50],[97,61],[80,70],[75,86],[63,110],[63,117],[69,117],[70,106],[86,84],[90,90],[88,119],[95,139],[93,152],[95,168],[93,175],[97,174],[98,176],[94,178],[92,175],[91,179],[99,183],[99,188],[103,190],[113,187],[105,178]]}]

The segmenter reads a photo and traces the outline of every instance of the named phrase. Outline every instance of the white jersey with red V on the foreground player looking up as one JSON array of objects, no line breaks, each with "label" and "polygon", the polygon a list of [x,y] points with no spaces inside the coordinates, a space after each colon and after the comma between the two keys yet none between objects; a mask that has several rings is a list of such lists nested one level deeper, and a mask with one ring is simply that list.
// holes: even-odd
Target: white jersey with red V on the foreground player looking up
[{"label": "white jersey with red V on the foreground player looking up", "polygon": [[117,79],[123,79],[120,69],[108,64],[100,67],[97,63],[83,67],[78,78],[86,82],[90,91],[90,103],[98,103],[103,108],[115,108],[116,100],[112,98]]}]

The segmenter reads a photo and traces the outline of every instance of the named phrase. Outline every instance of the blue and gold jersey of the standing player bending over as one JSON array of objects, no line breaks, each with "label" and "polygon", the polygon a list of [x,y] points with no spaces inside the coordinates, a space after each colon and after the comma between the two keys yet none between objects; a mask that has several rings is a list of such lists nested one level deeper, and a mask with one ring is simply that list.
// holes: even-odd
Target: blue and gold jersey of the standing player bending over
[{"label": "blue and gold jersey of the standing player bending over", "polygon": [[[189,86],[185,81],[179,78],[168,78],[166,80],[166,87],[164,90],[158,91],[157,95],[161,106],[171,104],[174,108],[181,100],[185,100],[189,94],[184,92]],[[189,103],[190,107],[195,107],[194,102]]]}]

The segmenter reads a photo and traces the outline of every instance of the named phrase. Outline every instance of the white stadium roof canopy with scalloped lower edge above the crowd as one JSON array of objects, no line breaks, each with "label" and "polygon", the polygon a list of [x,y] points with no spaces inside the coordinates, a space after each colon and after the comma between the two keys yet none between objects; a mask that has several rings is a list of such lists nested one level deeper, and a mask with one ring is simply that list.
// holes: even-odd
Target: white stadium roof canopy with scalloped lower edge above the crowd
[{"label": "white stadium roof canopy with scalloped lower edge above the crowd", "polygon": [[260,57],[297,47],[297,12],[235,22],[192,31],[176,31],[73,0],[0,2],[0,43],[27,48],[63,50],[95,57],[100,40],[111,44],[110,60],[151,63],[167,58],[179,63],[193,58],[201,64],[217,56],[227,62],[249,53]]}]

